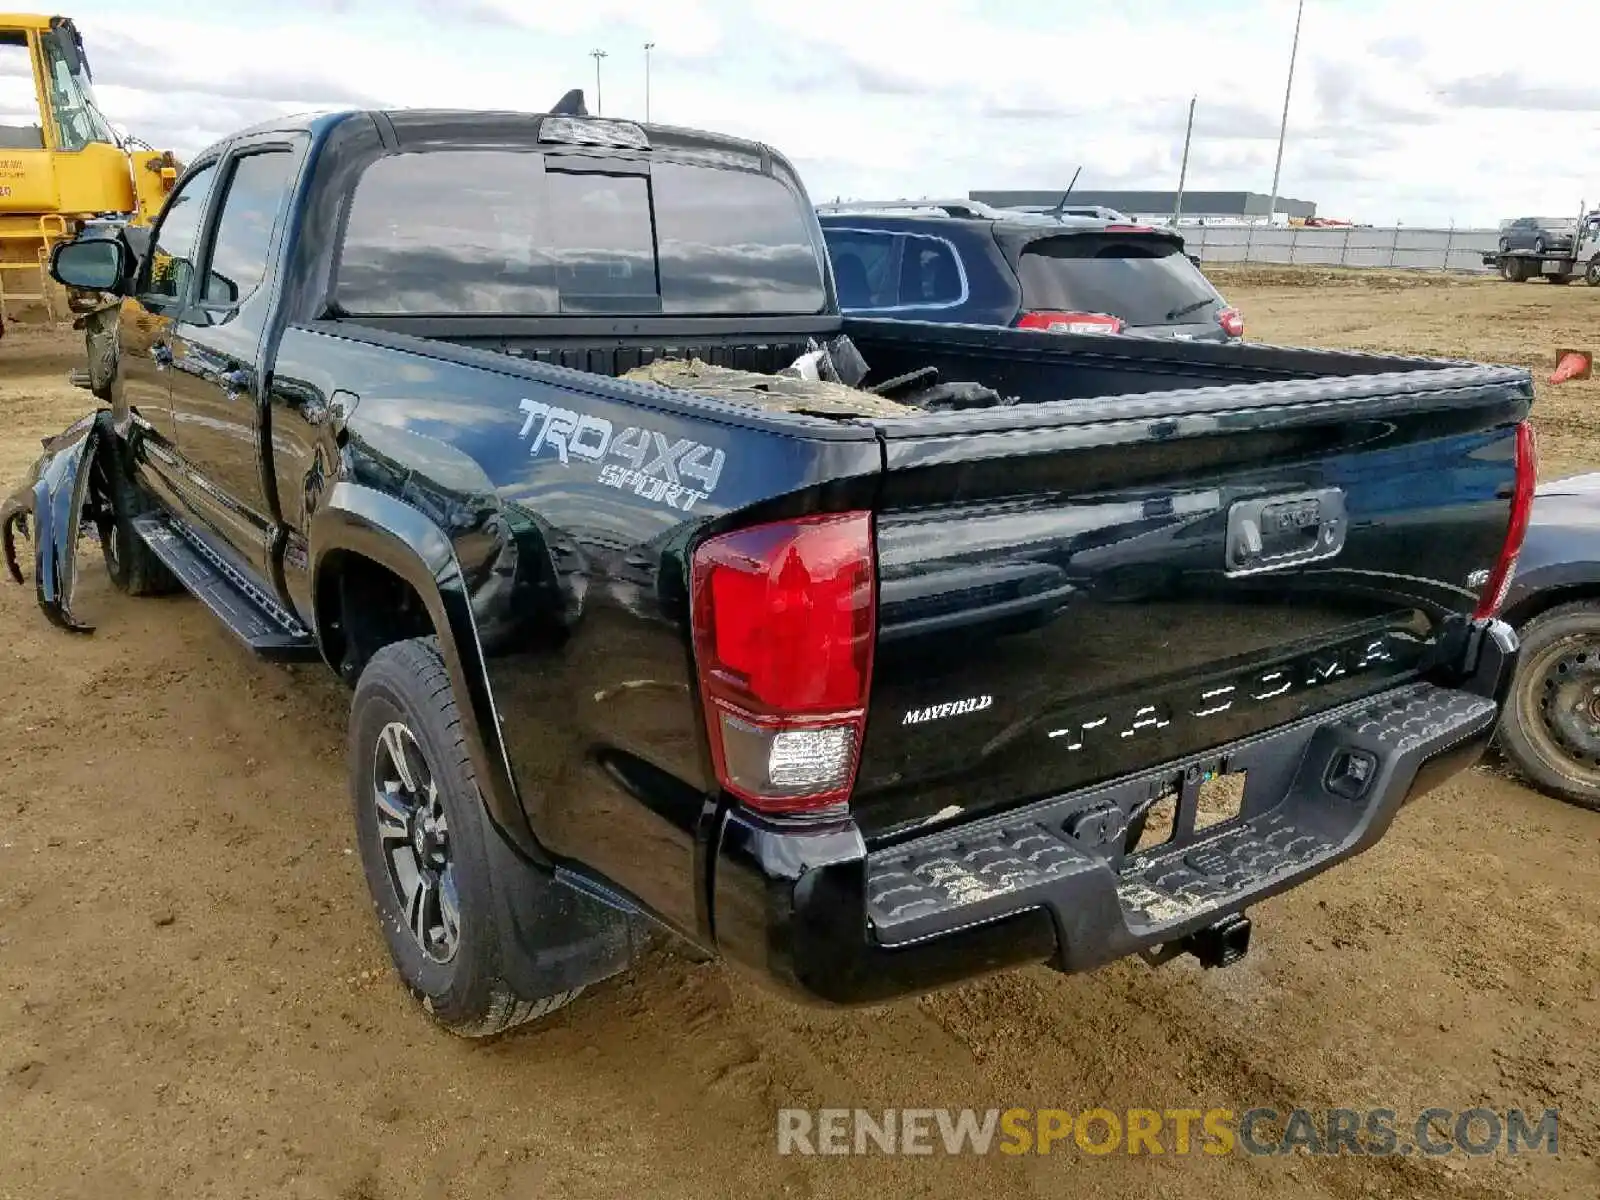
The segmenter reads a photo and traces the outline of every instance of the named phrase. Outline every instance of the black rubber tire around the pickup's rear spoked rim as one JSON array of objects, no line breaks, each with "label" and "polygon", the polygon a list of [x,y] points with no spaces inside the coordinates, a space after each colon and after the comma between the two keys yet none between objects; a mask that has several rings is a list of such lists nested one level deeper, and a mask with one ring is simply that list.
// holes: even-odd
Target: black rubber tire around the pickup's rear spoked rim
[{"label": "black rubber tire around the pickup's rear spoked rim", "polygon": [[[430,957],[411,933],[379,837],[378,749],[384,728],[394,722],[414,736],[448,822],[450,867],[459,896],[459,934],[448,962]],[[576,987],[530,998],[506,982],[504,931],[496,920],[485,846],[485,838],[498,834],[483,816],[437,638],[394,642],[362,670],[350,702],[349,771],[355,838],[378,923],[402,981],[434,1021],[461,1037],[490,1037],[547,1016],[582,992]]]}]

